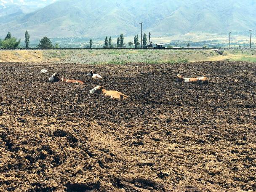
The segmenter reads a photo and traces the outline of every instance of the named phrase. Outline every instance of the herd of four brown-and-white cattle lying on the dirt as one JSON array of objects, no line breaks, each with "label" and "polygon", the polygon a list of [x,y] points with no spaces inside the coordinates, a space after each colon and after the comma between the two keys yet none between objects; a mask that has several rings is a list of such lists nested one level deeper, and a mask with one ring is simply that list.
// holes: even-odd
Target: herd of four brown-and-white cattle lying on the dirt
[{"label": "herd of four brown-and-white cattle lying on the dirt", "polygon": [[[93,79],[101,79],[102,77],[99,74],[96,74],[94,70],[91,70],[87,76],[93,78]],[[50,78],[50,82],[64,82],[64,83],[80,83],[84,84],[85,82],[83,80],[70,80],[65,78],[60,78],[59,74],[54,73]],[[187,82],[192,84],[209,84],[209,78],[208,77],[191,77],[191,78],[185,78],[181,75],[177,75],[176,82]],[[107,91],[102,86],[98,85],[92,90],[89,91],[89,93],[101,93],[104,96],[110,96],[113,99],[127,99],[128,96],[120,93],[118,91]]]}]

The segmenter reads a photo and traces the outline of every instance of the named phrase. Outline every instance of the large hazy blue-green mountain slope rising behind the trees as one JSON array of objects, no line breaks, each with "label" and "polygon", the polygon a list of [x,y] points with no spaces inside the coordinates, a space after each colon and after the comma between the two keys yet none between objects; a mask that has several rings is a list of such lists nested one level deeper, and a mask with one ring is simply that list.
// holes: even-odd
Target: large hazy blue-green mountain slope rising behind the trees
[{"label": "large hazy blue-green mountain slope rising behind the trees", "polygon": [[16,9],[0,17],[1,37],[23,38],[26,30],[32,38],[135,35],[141,21],[159,36],[256,27],[255,0],[59,0],[31,13]]}]

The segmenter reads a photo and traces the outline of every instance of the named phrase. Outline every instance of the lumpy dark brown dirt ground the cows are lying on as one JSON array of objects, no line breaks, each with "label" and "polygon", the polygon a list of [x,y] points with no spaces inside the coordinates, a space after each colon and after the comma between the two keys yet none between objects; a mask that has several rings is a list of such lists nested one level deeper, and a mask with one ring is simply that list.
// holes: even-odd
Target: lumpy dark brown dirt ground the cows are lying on
[{"label": "lumpy dark brown dirt ground the cows are lying on", "polygon": [[255,191],[255,64],[136,65],[0,64],[0,191]]}]

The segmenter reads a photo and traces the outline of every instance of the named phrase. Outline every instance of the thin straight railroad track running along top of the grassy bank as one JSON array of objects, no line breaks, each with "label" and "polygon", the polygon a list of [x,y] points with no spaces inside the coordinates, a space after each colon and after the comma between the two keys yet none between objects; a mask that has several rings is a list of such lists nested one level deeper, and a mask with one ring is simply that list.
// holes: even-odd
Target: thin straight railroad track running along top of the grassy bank
[{"label": "thin straight railroad track running along top of the grassy bank", "polygon": [[[110,50],[140,50],[140,49],[134,49],[134,48],[0,48],[0,51],[17,51],[17,50],[32,50],[32,51],[37,51],[37,50],[75,50],[75,49],[85,49],[85,50],[96,50],[96,49],[110,49]],[[143,49],[143,50],[213,50],[213,51],[218,51],[218,50],[256,50],[256,48],[219,48],[219,49],[213,49],[213,48],[165,48],[165,49],[157,49],[157,48],[150,48],[150,49]]]}]

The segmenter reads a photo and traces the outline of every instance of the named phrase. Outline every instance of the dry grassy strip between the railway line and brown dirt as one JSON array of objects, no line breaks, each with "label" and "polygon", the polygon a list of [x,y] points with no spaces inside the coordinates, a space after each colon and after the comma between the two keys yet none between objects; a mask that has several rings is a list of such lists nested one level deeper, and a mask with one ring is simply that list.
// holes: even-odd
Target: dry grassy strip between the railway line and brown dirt
[{"label": "dry grassy strip between the railway line and brown dirt", "polygon": [[187,63],[193,61],[256,62],[255,50],[38,50],[0,51],[0,62],[52,62],[83,64]]}]

